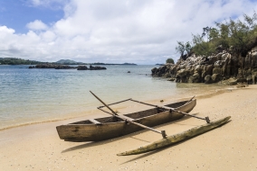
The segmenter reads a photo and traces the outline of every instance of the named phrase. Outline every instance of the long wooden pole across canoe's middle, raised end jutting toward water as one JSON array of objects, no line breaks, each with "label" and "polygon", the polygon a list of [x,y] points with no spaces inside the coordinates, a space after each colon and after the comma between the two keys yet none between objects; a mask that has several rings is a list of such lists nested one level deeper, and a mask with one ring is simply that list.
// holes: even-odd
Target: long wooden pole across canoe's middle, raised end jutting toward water
[{"label": "long wooden pole across canoe's middle, raised end jutting toward water", "polygon": [[[91,91],[90,91],[90,93],[93,94]],[[102,102],[102,101],[100,100],[100,98],[99,98],[96,94],[93,94],[93,95],[100,101],[100,103],[103,103],[103,104],[109,109],[110,112],[112,112],[112,113],[110,113],[110,114],[112,114],[113,116],[119,118],[120,120],[128,121],[128,122],[130,122],[130,123],[133,123],[133,124],[135,124],[135,125],[138,125],[139,127],[142,127],[142,128],[144,128],[144,129],[148,129],[148,130],[152,130],[152,131],[155,131],[155,132],[157,132],[157,133],[160,133],[160,134],[162,134],[162,137],[163,137],[164,139],[166,138],[167,135],[166,135],[165,130],[161,130],[161,131],[155,130],[155,129],[152,129],[152,128],[146,126],[146,125],[140,124],[140,123],[138,123],[138,122],[129,121],[129,120],[123,118],[122,116],[119,116],[116,112],[114,112],[114,111],[109,107],[109,105],[107,105],[106,103]]]}]

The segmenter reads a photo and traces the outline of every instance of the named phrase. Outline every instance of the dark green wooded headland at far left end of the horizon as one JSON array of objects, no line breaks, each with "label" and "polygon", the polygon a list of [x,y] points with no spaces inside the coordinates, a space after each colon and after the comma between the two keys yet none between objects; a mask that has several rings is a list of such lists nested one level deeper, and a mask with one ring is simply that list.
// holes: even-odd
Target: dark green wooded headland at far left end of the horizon
[{"label": "dark green wooded headland at far left end of the horizon", "polygon": [[37,65],[42,62],[22,58],[0,58],[0,65]]}]

